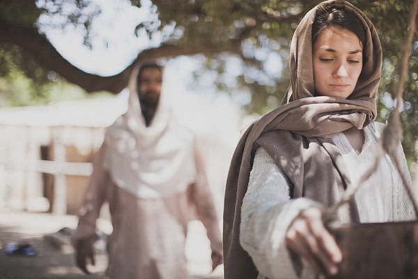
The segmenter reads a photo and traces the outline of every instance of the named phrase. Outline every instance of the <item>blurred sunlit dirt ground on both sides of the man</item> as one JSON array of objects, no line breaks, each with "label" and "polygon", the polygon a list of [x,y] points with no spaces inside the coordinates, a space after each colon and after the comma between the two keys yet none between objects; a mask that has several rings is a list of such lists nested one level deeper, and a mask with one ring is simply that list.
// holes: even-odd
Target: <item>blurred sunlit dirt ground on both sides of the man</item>
[{"label": "blurred sunlit dirt ground on both sides of the man", "polygon": [[[74,263],[74,251],[70,245],[56,243],[48,236],[56,235],[63,227],[74,228],[75,216],[55,216],[48,213],[0,212],[0,279],[104,279],[107,256],[104,245],[98,247],[96,264],[91,266],[92,275],[84,275]],[[101,220],[99,227],[108,232],[109,223]],[[186,255],[189,259],[190,279],[222,279],[223,266],[210,273],[208,240],[200,223],[189,225]],[[59,234],[61,236],[61,234]],[[29,243],[36,255],[7,255],[8,243]],[[100,244],[100,243],[99,243]],[[121,278],[122,279],[122,278]]]}]

